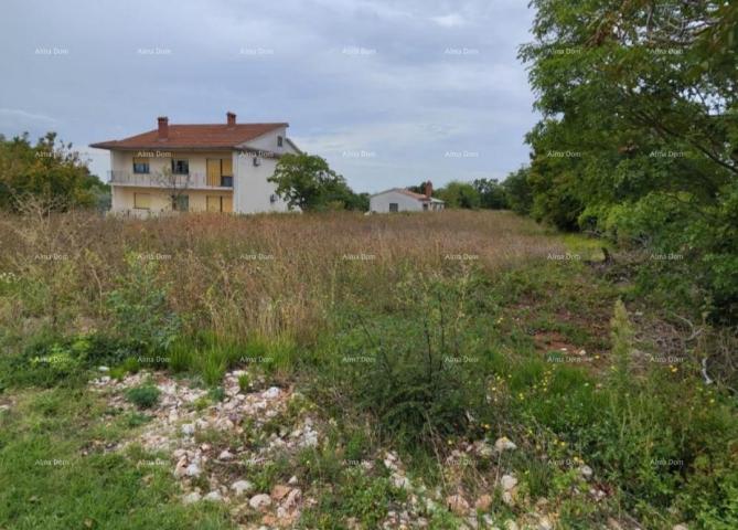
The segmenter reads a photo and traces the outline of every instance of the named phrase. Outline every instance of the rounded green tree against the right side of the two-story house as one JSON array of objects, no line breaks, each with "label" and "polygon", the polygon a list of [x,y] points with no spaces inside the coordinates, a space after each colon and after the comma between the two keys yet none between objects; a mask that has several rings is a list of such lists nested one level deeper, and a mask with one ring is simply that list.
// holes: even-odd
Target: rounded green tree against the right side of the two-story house
[{"label": "rounded green tree against the right side of the two-story house", "polygon": [[290,210],[368,209],[367,197],[356,195],[343,177],[314,155],[282,155],[269,182],[277,184],[276,193],[287,201]]}]

